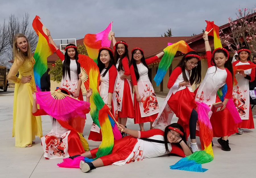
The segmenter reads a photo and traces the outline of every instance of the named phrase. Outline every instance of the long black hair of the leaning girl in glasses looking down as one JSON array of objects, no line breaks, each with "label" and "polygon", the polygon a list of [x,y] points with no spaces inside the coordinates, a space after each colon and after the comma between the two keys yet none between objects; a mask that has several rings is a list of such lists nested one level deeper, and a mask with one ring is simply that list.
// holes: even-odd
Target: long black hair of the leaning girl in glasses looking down
[{"label": "long black hair of the leaning girl in glasses looking down", "polygon": [[183,55],[183,57],[181,58],[181,61],[179,62],[179,64],[177,65],[177,67],[181,67],[181,70],[182,70],[182,76],[183,76],[183,79],[184,81],[190,81],[190,84],[193,85],[193,83],[195,82],[195,84],[199,84],[201,82],[201,61],[198,60],[197,62],[197,66],[194,67],[193,69],[191,69],[191,76],[189,77],[189,79],[187,78],[187,75],[186,75],[186,64],[185,62],[187,62],[188,60],[192,59],[192,58],[195,58],[195,57],[186,57],[186,55],[189,55],[189,54],[193,54],[193,55],[198,55],[197,52],[195,51],[190,51],[188,52],[187,54]]}]

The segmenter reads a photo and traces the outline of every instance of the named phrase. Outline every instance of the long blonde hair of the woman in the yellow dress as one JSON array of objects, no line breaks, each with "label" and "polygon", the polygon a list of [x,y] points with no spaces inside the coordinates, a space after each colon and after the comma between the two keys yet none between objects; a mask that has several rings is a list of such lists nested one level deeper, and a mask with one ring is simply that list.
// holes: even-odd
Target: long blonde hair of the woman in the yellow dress
[{"label": "long blonde hair of the woman in the yellow dress", "polygon": [[19,62],[20,64],[23,64],[26,59],[30,59],[32,57],[32,54],[31,54],[31,48],[30,48],[29,42],[28,42],[28,50],[27,50],[26,54],[24,54],[20,50],[18,50],[18,47],[17,47],[16,43],[17,43],[17,38],[19,38],[19,37],[26,38],[26,40],[28,42],[27,37],[22,33],[17,33],[14,36],[14,39],[13,39],[13,58],[14,58],[14,60]]}]

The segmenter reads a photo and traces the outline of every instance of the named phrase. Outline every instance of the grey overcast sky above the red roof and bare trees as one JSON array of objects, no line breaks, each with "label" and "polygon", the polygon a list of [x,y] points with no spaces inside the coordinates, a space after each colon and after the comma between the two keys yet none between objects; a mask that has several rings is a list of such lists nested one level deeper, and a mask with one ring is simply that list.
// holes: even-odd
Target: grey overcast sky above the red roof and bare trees
[{"label": "grey overcast sky above the red roof and bare trees", "polygon": [[31,27],[40,16],[54,39],[81,39],[104,30],[111,21],[117,37],[158,37],[168,28],[174,36],[191,36],[202,32],[204,20],[220,26],[228,17],[236,18],[237,9],[255,5],[255,0],[0,0],[0,24],[11,13],[22,19],[28,12]]}]

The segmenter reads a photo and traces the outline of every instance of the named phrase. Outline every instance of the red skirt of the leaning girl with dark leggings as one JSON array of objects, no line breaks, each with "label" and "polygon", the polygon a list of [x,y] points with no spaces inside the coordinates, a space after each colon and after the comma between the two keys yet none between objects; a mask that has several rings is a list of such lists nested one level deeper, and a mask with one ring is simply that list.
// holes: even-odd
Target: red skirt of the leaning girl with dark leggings
[{"label": "red skirt of the leaning girl with dark leggings", "polygon": [[169,107],[176,114],[178,122],[186,132],[186,139],[189,136],[189,119],[193,109],[196,110],[195,94],[186,87],[175,94],[172,94],[167,101]]}]

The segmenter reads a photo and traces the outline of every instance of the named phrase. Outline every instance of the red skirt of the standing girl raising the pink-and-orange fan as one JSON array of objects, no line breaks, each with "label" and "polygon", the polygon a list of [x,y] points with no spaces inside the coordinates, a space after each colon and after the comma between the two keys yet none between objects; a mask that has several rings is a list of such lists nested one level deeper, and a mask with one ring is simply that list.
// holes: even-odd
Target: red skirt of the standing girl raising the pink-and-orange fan
[{"label": "red skirt of the standing girl raising the pink-and-orange fan", "polygon": [[133,100],[131,97],[130,85],[127,79],[124,80],[122,111],[118,111],[119,118],[134,118]]}]

